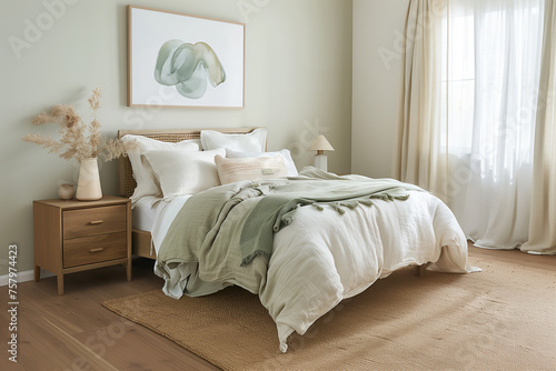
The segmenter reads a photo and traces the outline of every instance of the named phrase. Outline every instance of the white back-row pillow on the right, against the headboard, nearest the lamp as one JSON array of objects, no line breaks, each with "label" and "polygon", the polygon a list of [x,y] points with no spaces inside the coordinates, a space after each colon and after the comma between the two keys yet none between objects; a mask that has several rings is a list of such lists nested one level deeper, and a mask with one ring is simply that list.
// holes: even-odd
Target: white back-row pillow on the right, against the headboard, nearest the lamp
[{"label": "white back-row pillow on the right, against the headboard, nearest the lamp", "polygon": [[203,150],[217,148],[239,152],[264,152],[267,142],[267,129],[255,129],[248,134],[225,134],[214,130],[201,131]]}]

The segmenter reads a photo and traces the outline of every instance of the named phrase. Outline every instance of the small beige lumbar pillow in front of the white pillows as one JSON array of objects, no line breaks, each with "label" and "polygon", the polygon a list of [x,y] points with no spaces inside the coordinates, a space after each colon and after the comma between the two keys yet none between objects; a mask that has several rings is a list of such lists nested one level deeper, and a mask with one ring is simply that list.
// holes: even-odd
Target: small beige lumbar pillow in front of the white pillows
[{"label": "small beige lumbar pillow in front of the white pillows", "polygon": [[226,159],[217,154],[215,162],[222,184],[240,180],[265,180],[288,177],[284,159],[279,156]]}]

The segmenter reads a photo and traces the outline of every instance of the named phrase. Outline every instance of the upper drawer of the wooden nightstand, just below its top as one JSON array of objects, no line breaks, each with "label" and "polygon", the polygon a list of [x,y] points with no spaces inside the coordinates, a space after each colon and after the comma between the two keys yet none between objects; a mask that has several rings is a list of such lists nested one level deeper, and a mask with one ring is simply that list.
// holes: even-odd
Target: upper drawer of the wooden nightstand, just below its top
[{"label": "upper drawer of the wooden nightstand, just below its top", "polygon": [[63,211],[63,239],[126,231],[126,205]]}]

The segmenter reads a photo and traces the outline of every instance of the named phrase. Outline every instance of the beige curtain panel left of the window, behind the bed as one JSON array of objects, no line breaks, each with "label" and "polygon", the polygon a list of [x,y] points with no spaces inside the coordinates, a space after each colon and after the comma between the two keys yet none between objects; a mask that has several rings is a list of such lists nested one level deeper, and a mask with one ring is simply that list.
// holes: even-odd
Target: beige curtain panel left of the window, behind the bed
[{"label": "beige curtain panel left of the window, behind the bed", "polygon": [[413,0],[406,22],[404,117],[393,177],[440,197],[446,164],[439,156],[444,0]]}]

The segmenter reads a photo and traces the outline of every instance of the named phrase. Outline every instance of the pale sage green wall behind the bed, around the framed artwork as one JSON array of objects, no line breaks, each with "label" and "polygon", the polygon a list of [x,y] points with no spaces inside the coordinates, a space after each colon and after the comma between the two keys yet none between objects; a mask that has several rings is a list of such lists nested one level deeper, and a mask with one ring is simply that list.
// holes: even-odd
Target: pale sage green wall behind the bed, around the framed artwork
[{"label": "pale sage green wall behind the bed, around the framed artwork", "polygon": [[[63,3],[49,11],[46,4]],[[0,275],[8,245],[19,245],[19,271],[32,269],[32,200],[56,198],[58,183],[77,182],[78,167],[21,137],[53,126],[31,119],[57,103],[75,103],[89,118],[86,100],[102,89],[100,122],[118,129],[262,126],[268,149],[289,148],[299,168],[301,151],[318,127],[336,151],[329,170],[350,171],[351,1],[348,0],[136,0],[133,6],[186,12],[246,26],[245,109],[145,109],[126,107],[126,4],[122,0],[17,0],[0,3]],[[245,18],[244,13],[250,13]],[[56,13],[53,16],[49,16]],[[49,21],[52,21],[49,23]],[[40,22],[40,34],[29,24]],[[11,39],[10,39],[11,38]],[[19,51],[10,46],[28,42]],[[101,167],[102,190],[116,194],[116,162]]]}]

